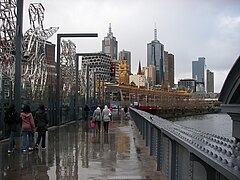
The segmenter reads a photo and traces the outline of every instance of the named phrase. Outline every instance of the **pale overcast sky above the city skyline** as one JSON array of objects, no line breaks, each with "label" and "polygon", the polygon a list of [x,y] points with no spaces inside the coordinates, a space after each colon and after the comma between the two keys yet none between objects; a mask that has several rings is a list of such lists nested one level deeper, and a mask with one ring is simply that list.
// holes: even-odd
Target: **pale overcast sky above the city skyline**
[{"label": "pale overcast sky above the city skyline", "polygon": [[[132,72],[146,66],[147,43],[154,38],[175,56],[175,83],[191,78],[192,61],[206,58],[214,72],[215,92],[240,55],[240,0],[25,0],[24,32],[30,27],[28,7],[45,8],[44,28],[58,33],[98,33],[98,38],[71,39],[77,52],[99,52],[109,23],[118,50],[132,53]],[[49,39],[56,43],[56,34]]]}]

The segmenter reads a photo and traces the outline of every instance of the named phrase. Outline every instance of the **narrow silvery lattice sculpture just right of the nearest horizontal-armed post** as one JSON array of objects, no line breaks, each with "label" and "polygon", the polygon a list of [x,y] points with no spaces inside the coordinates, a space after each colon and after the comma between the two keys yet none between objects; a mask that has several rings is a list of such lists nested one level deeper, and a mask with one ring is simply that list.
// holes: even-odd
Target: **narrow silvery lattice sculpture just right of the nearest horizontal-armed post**
[{"label": "narrow silvery lattice sculpture just right of the nearest horizontal-armed post", "polygon": [[61,68],[61,95],[63,103],[69,104],[76,84],[76,45],[71,40],[61,41],[60,68]]}]

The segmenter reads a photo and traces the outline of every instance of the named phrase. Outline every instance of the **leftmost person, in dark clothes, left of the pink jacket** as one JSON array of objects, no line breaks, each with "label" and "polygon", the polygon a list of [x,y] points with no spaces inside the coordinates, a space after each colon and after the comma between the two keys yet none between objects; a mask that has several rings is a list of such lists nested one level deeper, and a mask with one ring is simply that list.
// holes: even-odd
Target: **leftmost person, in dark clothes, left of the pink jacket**
[{"label": "leftmost person, in dark clothes, left of the pink jacket", "polygon": [[17,131],[17,124],[19,123],[18,113],[14,104],[11,104],[6,110],[4,122],[7,125],[7,132],[9,136],[8,153],[12,153],[15,148],[15,134]]}]

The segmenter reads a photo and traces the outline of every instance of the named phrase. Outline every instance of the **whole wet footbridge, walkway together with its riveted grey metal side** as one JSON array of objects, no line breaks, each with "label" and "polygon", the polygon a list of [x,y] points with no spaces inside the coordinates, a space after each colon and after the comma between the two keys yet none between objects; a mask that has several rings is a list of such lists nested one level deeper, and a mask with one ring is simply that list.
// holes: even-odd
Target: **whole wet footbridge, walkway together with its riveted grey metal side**
[{"label": "whole wet footbridge, walkway together with its riveted grey metal side", "polygon": [[133,108],[113,115],[109,134],[82,120],[50,128],[45,151],[0,143],[0,179],[240,179],[240,143]]}]

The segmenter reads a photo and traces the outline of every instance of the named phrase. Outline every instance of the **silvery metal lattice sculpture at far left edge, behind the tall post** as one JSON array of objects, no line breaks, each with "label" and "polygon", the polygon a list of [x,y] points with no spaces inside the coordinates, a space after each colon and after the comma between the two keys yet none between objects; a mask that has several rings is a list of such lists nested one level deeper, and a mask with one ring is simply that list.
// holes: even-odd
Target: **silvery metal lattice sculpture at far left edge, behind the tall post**
[{"label": "silvery metal lattice sculpture at far left edge, behind the tall post", "polygon": [[0,76],[15,74],[16,0],[0,0]]}]

